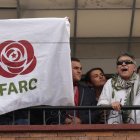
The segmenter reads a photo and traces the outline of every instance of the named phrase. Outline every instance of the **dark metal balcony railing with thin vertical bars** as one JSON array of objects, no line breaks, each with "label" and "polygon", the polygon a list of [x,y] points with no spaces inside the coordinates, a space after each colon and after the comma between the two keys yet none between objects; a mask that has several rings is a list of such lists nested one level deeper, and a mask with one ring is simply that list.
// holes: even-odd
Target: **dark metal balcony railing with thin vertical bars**
[{"label": "dark metal balcony railing with thin vertical bars", "polygon": [[[75,119],[77,117],[77,113],[81,113],[86,116],[86,119],[88,120],[87,122],[84,122],[86,124],[108,124],[109,120],[115,118],[114,116],[110,116],[111,111],[114,111],[111,106],[38,106],[0,115],[0,125],[62,125],[65,124],[65,119],[69,114]],[[133,111],[133,118],[130,116],[127,116],[126,118],[125,116],[125,120],[128,121],[124,122],[123,115],[128,111],[131,113]],[[122,106],[121,111],[119,111],[116,116],[119,118],[119,122],[115,123],[139,123],[137,116],[139,111],[139,105]],[[101,120],[93,122],[93,114],[94,117],[101,117]]]}]

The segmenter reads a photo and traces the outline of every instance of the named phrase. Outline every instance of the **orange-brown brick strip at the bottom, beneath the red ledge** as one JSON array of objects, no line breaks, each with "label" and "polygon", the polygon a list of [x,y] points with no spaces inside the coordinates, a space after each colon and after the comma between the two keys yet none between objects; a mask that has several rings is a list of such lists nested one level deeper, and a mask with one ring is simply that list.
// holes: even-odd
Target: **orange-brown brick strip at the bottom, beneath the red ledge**
[{"label": "orange-brown brick strip at the bottom, beneath the red ledge", "polygon": [[0,140],[140,140],[140,131],[118,132],[12,132],[0,133]]}]

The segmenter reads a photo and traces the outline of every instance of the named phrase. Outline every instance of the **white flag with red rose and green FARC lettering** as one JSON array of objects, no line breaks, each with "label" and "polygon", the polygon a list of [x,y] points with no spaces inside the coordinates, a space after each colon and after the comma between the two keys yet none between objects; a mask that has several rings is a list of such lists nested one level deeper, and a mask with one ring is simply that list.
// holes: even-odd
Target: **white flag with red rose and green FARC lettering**
[{"label": "white flag with red rose and green FARC lettering", "polygon": [[66,18],[0,20],[0,114],[74,105],[69,28]]}]

